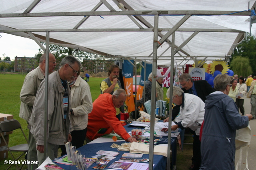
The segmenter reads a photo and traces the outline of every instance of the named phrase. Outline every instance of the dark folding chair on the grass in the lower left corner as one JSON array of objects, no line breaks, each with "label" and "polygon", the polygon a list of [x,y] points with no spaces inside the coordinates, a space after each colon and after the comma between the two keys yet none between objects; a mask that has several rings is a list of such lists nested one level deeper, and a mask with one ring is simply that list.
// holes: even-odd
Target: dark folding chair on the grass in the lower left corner
[{"label": "dark folding chair on the grass in the lower left corner", "polygon": [[[27,143],[9,147],[6,140],[4,139],[3,133],[10,132],[10,131],[16,130],[16,129],[21,130]],[[24,155],[24,154],[26,154],[26,152],[28,152],[28,139],[26,138],[26,136],[20,126],[20,122],[18,122],[18,120],[11,119],[11,120],[5,120],[5,121],[0,122],[0,133],[1,133],[1,136],[10,152],[10,155],[12,156],[14,161],[18,160],[22,155]],[[14,156],[12,155],[12,152],[22,152],[22,154],[18,158],[15,159]],[[11,166],[12,166],[12,164],[10,164],[10,166],[6,170],[8,170]],[[21,170],[23,167],[23,164],[22,164],[21,168],[19,168],[17,164],[16,164],[16,166],[17,166],[18,170]]]}]

